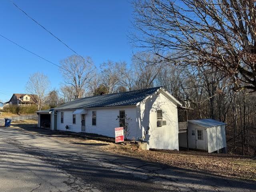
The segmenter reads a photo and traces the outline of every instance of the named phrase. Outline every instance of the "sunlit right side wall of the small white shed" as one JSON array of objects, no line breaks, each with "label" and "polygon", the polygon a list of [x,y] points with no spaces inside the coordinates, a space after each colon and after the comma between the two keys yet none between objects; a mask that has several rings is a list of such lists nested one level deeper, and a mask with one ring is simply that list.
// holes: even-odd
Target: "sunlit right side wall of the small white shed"
[{"label": "sunlit right side wall of the small white shed", "polygon": [[207,136],[209,153],[226,147],[225,125],[208,128]]}]

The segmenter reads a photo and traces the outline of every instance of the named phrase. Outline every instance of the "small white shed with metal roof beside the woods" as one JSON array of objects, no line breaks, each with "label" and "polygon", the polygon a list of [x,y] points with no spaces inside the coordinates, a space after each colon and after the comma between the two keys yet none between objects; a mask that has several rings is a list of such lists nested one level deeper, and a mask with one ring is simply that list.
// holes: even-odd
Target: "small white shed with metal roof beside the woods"
[{"label": "small white shed with metal roof beside the woods", "polygon": [[[187,147],[186,133],[180,134],[180,147]],[[213,119],[188,120],[188,146],[209,153],[226,152],[226,124]]]}]

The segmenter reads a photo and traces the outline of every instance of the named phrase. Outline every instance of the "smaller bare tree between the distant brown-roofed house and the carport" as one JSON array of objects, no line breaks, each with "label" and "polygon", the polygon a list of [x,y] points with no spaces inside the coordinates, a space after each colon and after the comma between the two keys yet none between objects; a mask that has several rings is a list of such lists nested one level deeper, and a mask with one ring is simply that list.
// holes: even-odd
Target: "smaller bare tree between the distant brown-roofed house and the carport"
[{"label": "smaller bare tree between the distant brown-roofed house and the carport", "polygon": [[30,75],[26,84],[26,90],[30,94],[36,95],[34,100],[38,106],[38,110],[42,110],[42,106],[45,104],[45,95],[50,86],[48,77],[40,72]]}]

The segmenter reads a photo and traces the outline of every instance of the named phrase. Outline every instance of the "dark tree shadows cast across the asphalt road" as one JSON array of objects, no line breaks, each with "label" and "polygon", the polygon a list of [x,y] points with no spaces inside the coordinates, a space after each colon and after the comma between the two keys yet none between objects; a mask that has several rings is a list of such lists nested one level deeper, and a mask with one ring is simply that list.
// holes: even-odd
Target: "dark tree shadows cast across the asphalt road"
[{"label": "dark tree shadows cast across the asphalt road", "polygon": [[[28,134],[31,139],[37,139],[29,132],[36,132],[42,136],[56,136],[57,132],[49,130],[26,127],[16,129],[16,134]],[[0,137],[4,137],[5,133],[0,132]],[[6,133],[13,134],[13,133]],[[15,136],[15,134],[14,134]],[[66,135],[62,135],[63,137]],[[72,137],[72,136],[66,136]],[[52,141],[53,144],[55,141]],[[256,190],[256,182],[234,180],[230,178],[214,176],[199,170],[189,170],[184,168],[167,166],[161,163],[152,163],[136,159],[133,157],[111,154],[108,152],[96,150],[96,148],[86,148],[82,145],[98,146],[96,143],[84,144],[76,143],[75,146],[67,144],[58,144],[58,147],[47,147],[45,140],[44,147],[35,147],[32,144],[16,140],[8,141],[8,144],[15,146],[25,152],[58,167],[69,174],[81,178],[86,182],[92,183],[102,191],[206,191],[202,189],[208,186],[208,192],[216,192],[223,190],[227,192],[243,192],[245,190]],[[9,145],[9,146],[10,146]],[[15,154],[14,159],[22,160],[24,154],[13,148],[6,146],[2,148],[6,153]],[[6,165],[5,165],[6,164]],[[105,165],[107,164],[107,165]],[[110,166],[109,166],[110,164]],[[26,162],[24,166],[18,166],[10,162],[2,162],[0,169],[9,166],[14,171],[20,171],[26,167],[33,169],[33,162]],[[122,169],[120,169],[122,167]],[[42,175],[47,175],[42,171]],[[200,190],[199,190],[200,189]]]}]

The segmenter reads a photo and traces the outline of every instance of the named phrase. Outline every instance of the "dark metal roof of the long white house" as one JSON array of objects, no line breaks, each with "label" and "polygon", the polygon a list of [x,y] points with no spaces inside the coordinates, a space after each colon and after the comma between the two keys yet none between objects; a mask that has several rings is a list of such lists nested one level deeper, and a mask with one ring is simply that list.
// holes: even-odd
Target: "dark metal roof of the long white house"
[{"label": "dark metal roof of the long white house", "polygon": [[159,88],[161,87],[80,98],[63,104],[55,110],[136,105]]}]

